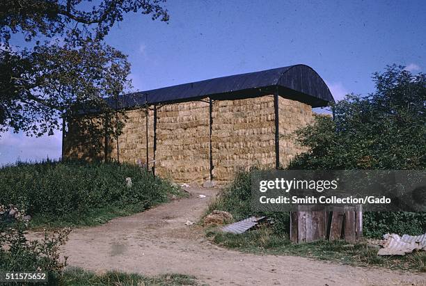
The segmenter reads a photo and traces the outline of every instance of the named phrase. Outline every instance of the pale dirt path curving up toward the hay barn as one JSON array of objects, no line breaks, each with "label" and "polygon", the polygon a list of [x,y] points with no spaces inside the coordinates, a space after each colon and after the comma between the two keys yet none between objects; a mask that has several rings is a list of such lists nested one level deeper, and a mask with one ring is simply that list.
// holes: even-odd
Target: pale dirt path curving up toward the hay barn
[{"label": "pale dirt path curving up toward the hay barn", "polygon": [[187,219],[198,221],[217,190],[189,191],[190,198],[73,230],[64,251],[69,264],[95,271],[186,273],[210,285],[426,285],[424,274],[219,248],[197,226],[184,225]]}]

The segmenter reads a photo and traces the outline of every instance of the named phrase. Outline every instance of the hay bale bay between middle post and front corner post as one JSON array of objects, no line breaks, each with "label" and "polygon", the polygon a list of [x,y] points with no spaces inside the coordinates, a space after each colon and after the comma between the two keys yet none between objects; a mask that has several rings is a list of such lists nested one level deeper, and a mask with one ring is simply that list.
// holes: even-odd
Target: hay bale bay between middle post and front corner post
[{"label": "hay bale bay between middle post and front corner post", "polygon": [[239,169],[275,162],[274,97],[224,100],[213,104],[214,180],[224,184]]}]

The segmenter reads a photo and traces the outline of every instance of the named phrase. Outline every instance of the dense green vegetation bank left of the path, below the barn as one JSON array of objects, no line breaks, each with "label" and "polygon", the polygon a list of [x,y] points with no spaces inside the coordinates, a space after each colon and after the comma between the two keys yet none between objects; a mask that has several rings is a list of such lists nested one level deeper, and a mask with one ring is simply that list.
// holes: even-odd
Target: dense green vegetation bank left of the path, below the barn
[{"label": "dense green vegetation bank left of the path, below the barn", "polygon": [[[132,179],[132,186],[125,179]],[[33,223],[102,223],[113,214],[141,212],[179,190],[138,166],[84,161],[17,163],[0,168],[0,203],[13,203]]]}]

